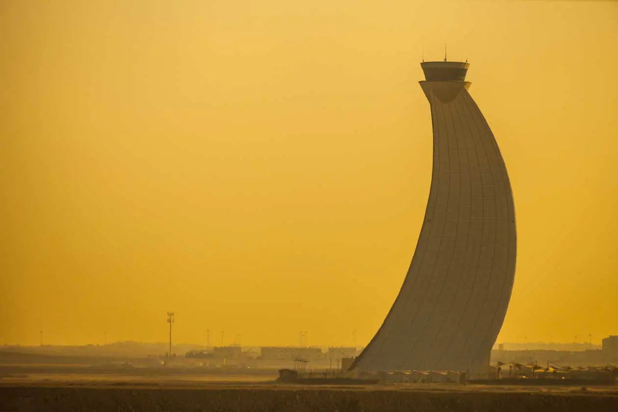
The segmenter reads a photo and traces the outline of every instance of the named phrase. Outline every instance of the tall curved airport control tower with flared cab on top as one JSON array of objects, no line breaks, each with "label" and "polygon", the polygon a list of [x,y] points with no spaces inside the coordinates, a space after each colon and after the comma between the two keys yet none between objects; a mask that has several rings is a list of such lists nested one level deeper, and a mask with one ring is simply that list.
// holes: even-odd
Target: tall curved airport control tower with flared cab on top
[{"label": "tall curved airport control tower with flared cab on top", "polygon": [[468,93],[468,63],[423,62],[433,173],[404,284],[350,369],[480,371],[515,275],[515,210],[493,133]]}]

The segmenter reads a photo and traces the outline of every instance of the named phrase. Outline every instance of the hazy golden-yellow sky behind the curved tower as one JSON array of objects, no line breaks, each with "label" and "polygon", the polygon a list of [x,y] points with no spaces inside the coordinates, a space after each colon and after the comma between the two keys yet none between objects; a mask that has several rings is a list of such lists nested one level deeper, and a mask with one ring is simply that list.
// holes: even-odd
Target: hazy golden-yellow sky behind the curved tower
[{"label": "hazy golden-yellow sky behind the curved tower", "polygon": [[0,39],[0,343],[365,345],[445,42],[514,190],[498,342],[618,334],[618,2],[0,0]]}]

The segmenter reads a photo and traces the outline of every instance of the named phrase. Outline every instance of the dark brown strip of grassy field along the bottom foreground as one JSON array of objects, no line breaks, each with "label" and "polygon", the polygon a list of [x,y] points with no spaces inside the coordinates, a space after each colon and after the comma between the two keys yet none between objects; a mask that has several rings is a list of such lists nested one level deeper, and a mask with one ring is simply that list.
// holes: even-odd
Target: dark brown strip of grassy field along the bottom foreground
[{"label": "dark brown strip of grassy field along the bottom foreground", "polygon": [[[168,386],[169,385],[169,386]],[[307,388],[255,382],[47,382],[0,384],[0,411],[618,411],[604,389],[546,392],[492,387]]]}]

